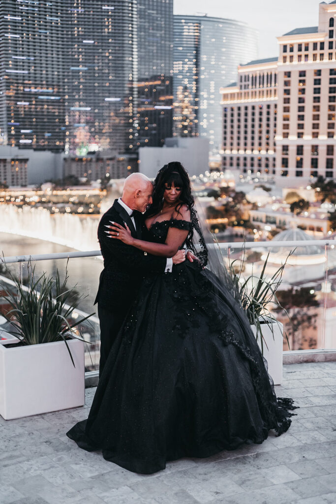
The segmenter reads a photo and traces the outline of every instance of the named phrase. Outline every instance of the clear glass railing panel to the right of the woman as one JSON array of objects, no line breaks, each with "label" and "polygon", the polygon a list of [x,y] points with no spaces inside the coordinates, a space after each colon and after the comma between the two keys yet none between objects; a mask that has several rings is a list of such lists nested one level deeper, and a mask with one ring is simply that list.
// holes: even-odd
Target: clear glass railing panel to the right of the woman
[{"label": "clear glass railing panel to the right of the woman", "polygon": [[[336,248],[332,240],[220,243],[227,267],[256,285],[265,260],[270,280],[286,262],[277,298],[268,308],[284,324],[284,351],[336,349]],[[238,273],[239,274],[239,273]]]}]

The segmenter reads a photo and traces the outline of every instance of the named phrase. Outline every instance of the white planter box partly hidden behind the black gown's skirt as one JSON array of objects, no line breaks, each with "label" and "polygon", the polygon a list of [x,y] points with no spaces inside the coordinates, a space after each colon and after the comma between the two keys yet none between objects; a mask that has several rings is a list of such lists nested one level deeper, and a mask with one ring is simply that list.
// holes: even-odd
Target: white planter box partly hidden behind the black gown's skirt
[{"label": "white planter box partly hidden behind the black gown's skirt", "polygon": [[[272,376],[274,385],[281,385],[283,381],[283,325],[281,322],[273,322],[273,333],[271,324],[262,324],[263,336],[263,356],[268,364],[268,374]],[[256,335],[255,326],[251,326],[254,336]],[[258,345],[261,350],[261,341],[258,335]]]}]

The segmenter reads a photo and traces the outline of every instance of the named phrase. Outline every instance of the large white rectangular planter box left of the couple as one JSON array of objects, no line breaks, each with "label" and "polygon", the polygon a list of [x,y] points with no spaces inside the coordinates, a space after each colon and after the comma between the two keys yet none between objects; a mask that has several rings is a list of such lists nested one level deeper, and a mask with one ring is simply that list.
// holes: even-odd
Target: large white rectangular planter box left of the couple
[{"label": "large white rectangular planter box left of the couple", "polygon": [[85,403],[84,343],[0,345],[0,414],[5,420],[75,408]]}]

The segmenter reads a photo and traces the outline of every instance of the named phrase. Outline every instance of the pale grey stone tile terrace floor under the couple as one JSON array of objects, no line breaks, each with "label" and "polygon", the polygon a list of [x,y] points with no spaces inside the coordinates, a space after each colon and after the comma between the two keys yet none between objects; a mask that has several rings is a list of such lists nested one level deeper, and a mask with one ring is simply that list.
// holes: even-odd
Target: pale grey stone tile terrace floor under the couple
[{"label": "pale grey stone tile terrace floor under the couple", "polygon": [[153,475],[128,472],[65,436],[86,405],[18,420],[0,417],[1,504],[336,503],[336,362],[284,366],[277,395],[300,409],[288,432]]}]

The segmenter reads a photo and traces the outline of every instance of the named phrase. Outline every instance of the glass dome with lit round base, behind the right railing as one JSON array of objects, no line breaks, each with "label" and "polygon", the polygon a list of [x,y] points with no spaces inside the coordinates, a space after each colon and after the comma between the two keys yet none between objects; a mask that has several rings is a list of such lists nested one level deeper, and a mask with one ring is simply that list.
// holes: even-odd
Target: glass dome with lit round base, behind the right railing
[{"label": "glass dome with lit round base, behind the right railing", "polygon": [[[276,234],[276,236],[272,238],[272,241],[288,241],[293,244],[270,248],[270,257],[268,258],[270,263],[284,263],[291,250],[293,254],[288,259],[288,264],[311,265],[324,262],[324,248],[320,245],[315,245],[314,238],[302,229],[296,227],[294,223],[291,229],[286,229]],[[298,241],[310,241],[312,243],[308,246],[296,246],[295,243]]]}]

